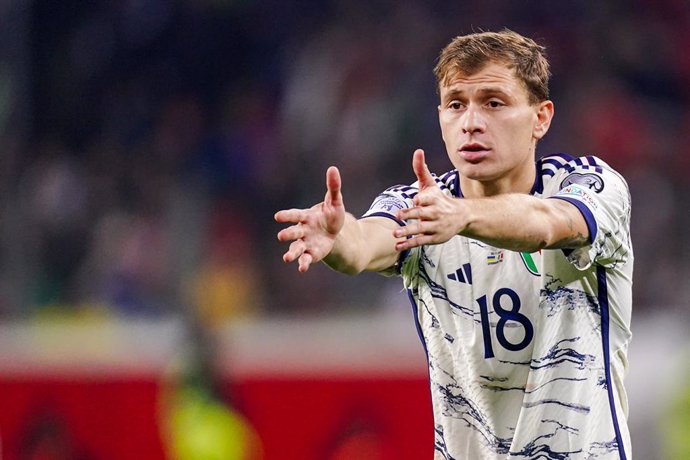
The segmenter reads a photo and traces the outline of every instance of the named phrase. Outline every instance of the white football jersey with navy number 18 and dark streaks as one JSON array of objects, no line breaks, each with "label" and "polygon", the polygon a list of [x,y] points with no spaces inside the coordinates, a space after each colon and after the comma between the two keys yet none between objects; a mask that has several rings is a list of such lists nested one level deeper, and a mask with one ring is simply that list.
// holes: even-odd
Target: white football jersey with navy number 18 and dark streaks
[{"label": "white football jersey with navy number 18 and dark streaks", "polygon": [[[631,458],[628,187],[592,156],[552,155],[536,168],[531,193],[577,206],[590,245],[529,254],[455,236],[401,257],[429,364],[436,459]],[[436,181],[462,198],[457,171]],[[416,183],[389,188],[363,217],[395,219],[416,193]]]}]

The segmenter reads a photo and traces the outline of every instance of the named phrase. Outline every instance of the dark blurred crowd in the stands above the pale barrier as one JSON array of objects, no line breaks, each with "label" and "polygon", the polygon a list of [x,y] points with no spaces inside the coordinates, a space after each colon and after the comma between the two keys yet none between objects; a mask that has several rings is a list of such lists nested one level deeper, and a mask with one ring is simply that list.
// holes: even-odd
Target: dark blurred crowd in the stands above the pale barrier
[{"label": "dark blurred crowd in the stands above the pale barrier", "polygon": [[450,169],[436,56],[503,27],[551,60],[538,153],[628,180],[636,311],[690,303],[684,0],[34,0],[0,24],[0,318],[405,309],[396,280],[285,266],[273,213],[331,164],[355,215],[415,148]]}]

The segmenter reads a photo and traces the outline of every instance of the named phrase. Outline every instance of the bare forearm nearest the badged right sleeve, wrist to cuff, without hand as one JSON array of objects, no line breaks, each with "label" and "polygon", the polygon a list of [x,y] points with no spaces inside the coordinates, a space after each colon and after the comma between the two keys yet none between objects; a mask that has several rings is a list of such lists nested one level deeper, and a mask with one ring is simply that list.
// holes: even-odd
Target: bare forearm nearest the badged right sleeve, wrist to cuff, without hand
[{"label": "bare forearm nearest the badged right sleeve, wrist to cuff, without hand", "polygon": [[586,223],[579,211],[561,200],[506,194],[464,199],[459,204],[466,215],[460,234],[492,246],[534,252],[588,242]]}]

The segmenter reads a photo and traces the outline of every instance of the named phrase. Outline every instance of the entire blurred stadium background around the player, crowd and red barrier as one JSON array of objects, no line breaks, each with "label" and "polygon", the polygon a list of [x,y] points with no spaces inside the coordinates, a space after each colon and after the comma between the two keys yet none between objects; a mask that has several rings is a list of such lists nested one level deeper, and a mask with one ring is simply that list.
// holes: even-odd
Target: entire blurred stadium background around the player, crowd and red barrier
[{"label": "entire blurred stadium background around the player, crowd and red barrier", "polygon": [[422,459],[431,415],[400,283],[281,262],[273,213],[341,168],[364,212],[448,169],[450,38],[547,45],[541,153],[633,196],[634,454],[690,458],[690,3],[0,2],[0,455]]}]

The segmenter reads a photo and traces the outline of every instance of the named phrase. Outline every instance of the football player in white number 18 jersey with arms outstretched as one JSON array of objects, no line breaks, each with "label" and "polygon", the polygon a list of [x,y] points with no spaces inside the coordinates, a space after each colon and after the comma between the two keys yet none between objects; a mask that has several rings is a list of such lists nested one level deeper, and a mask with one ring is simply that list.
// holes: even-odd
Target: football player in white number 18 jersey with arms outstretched
[{"label": "football player in white number 18 jersey with arms outstretched", "polygon": [[435,68],[455,167],[345,212],[337,168],[294,225],[300,272],[399,272],[427,353],[439,459],[629,459],[630,196],[599,158],[535,161],[549,129],[544,48],[509,30],[455,38]]}]

